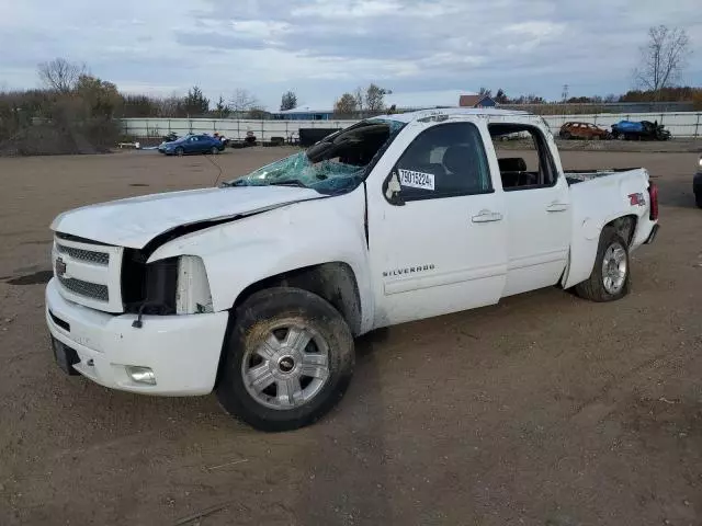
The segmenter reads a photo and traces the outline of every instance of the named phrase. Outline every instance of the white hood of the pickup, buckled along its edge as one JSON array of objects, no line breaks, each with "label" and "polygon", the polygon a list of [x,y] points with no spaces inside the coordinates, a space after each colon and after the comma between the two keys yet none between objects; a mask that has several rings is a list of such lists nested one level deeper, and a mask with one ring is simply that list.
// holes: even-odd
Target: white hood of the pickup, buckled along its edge
[{"label": "white hood of the pickup, buckled along its edge", "polygon": [[60,214],[52,230],[117,247],[141,249],[156,236],[184,225],[233,218],[301,201],[326,197],[310,188],[230,186],[145,195]]}]

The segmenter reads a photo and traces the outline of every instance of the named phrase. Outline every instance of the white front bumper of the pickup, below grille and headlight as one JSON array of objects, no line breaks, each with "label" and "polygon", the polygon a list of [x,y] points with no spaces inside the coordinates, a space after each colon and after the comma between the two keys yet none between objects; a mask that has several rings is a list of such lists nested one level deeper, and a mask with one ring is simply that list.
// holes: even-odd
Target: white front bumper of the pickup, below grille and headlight
[{"label": "white front bumper of the pickup, below grille and headlight", "polygon": [[[55,278],[46,286],[46,323],[52,336],[73,350],[72,368],[113,389],[158,396],[212,391],[228,312],[190,316],[109,315],[64,299]],[[156,385],[136,382],[126,366],[149,367]]]}]

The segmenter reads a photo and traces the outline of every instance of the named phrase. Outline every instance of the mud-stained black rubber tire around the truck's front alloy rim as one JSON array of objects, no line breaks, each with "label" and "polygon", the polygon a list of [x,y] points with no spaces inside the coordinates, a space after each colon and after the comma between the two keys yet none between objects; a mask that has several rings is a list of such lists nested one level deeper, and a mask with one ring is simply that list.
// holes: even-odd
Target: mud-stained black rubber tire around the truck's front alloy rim
[{"label": "mud-stained black rubber tire around the truck's front alloy rim", "polygon": [[[215,388],[225,411],[257,430],[280,432],[316,422],[341,400],[353,375],[355,353],[349,325],[329,302],[307,290],[276,287],[253,294],[231,316]],[[253,387],[245,385],[244,370],[245,366],[250,366],[252,357],[258,357],[252,350],[259,348],[272,334],[284,343],[278,331],[285,329],[276,329],[276,325],[286,323],[313,331],[326,342],[328,373],[319,390],[308,401],[291,409],[274,409],[249,392]],[[282,359],[278,361],[281,370]],[[302,386],[302,380],[297,381]],[[265,393],[273,385],[275,392]],[[273,381],[259,396],[264,395],[270,403],[275,403],[279,400],[278,389],[279,384]],[[292,397],[288,400],[296,403]]]}]

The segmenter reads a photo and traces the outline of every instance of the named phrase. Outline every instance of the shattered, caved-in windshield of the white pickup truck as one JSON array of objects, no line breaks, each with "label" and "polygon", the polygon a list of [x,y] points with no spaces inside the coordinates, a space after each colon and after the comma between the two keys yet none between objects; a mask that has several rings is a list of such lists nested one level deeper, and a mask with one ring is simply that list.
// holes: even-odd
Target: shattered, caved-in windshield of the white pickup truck
[{"label": "shattered, caved-in windshield of the white pickup truck", "polygon": [[375,155],[403,126],[404,123],[390,119],[363,121],[225,186],[290,185],[322,194],[349,192],[363,181]]}]

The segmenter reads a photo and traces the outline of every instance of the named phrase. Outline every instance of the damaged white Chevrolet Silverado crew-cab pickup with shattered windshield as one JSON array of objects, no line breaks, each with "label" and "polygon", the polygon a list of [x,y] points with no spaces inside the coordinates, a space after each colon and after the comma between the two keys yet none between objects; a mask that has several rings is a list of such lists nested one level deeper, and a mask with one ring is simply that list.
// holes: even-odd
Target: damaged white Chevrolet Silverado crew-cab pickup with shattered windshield
[{"label": "damaged white Chevrolet Silverado crew-cab pickup with shattered windshield", "polygon": [[[533,150],[501,150],[514,134]],[[291,430],[341,398],[373,329],[541,287],[623,297],[657,219],[646,170],[565,172],[537,116],[376,117],[220,187],[59,215],[46,321],[69,374],[214,390]]]}]

